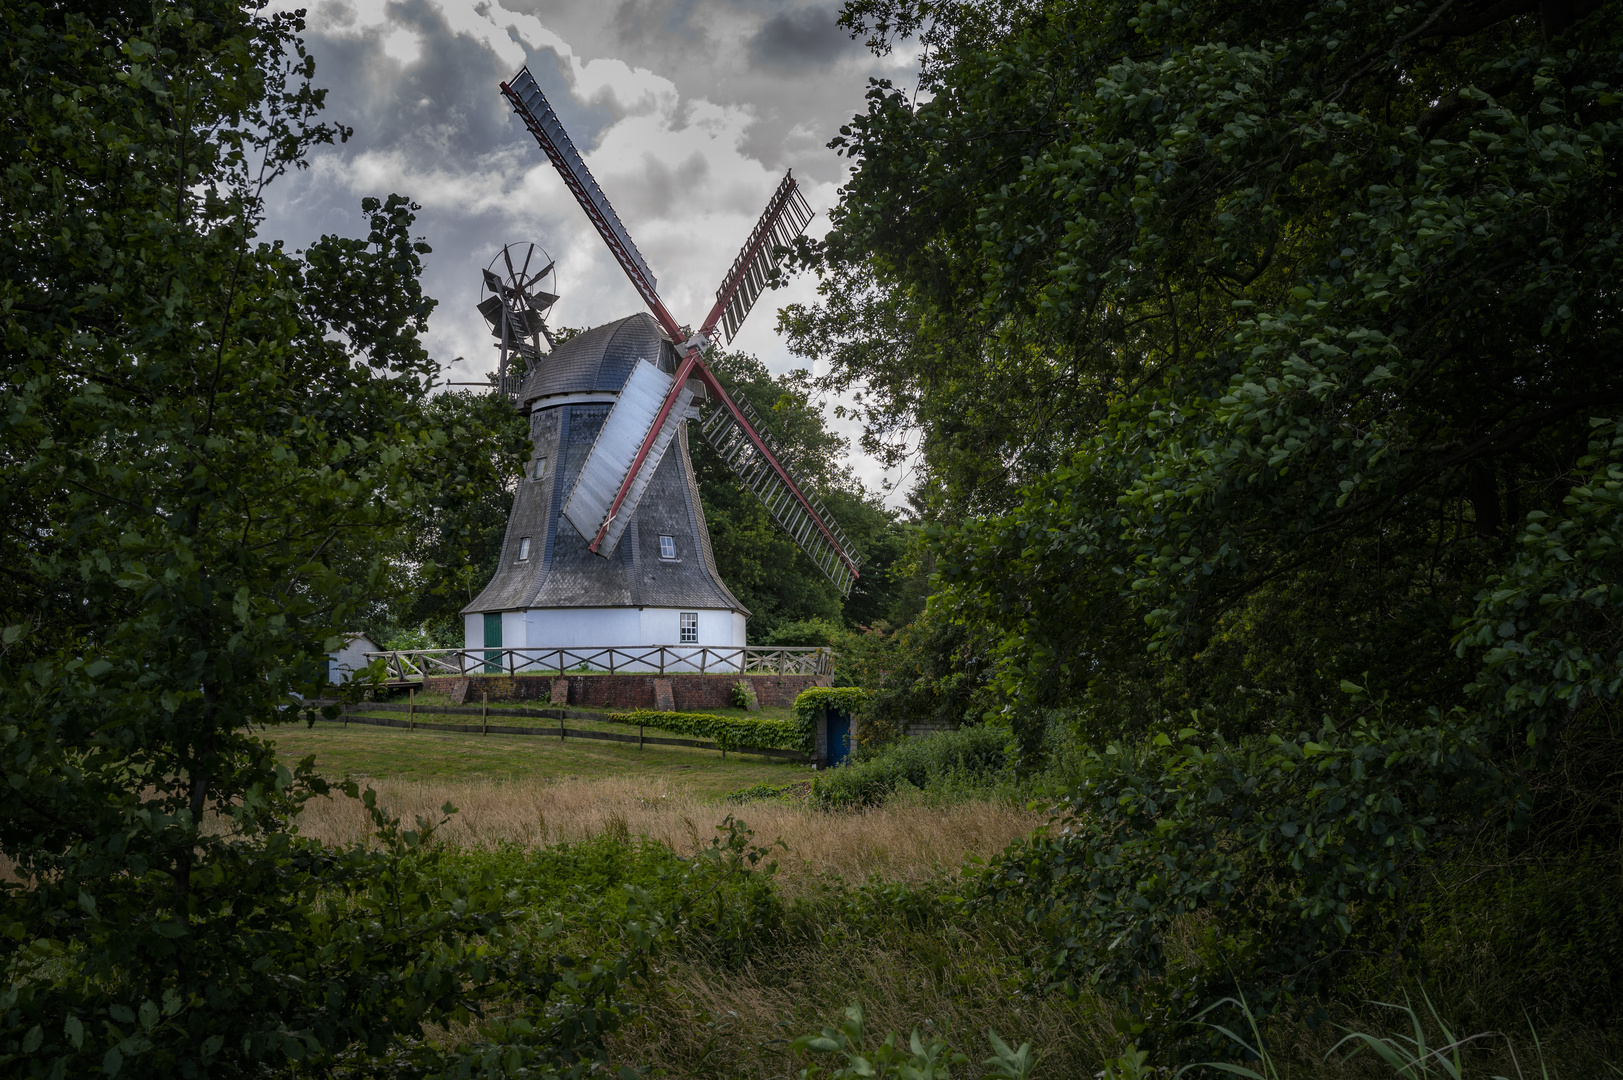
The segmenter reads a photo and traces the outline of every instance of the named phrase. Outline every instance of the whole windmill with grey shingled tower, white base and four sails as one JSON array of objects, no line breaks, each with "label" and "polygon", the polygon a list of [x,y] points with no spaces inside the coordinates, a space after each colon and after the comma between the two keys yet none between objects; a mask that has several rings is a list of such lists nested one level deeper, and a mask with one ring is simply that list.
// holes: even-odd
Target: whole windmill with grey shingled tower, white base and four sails
[{"label": "whole windmill with grey shingled tower, white base and four sails", "polygon": [[[711,557],[688,421],[700,421],[703,435],[779,528],[849,594],[860,555],[779,460],[760,417],[727,393],[703,359],[717,326],[732,341],[776,271],[781,248],[812,219],[794,177],[773,195],[704,323],[685,333],[529,68],[503,83],[502,93],[649,312],[588,330],[545,356],[524,354],[527,375],[516,404],[529,416],[534,455],[513,500],[502,564],[463,609],[466,648],[745,643],[750,612]],[[487,284],[508,305],[480,305],[493,333],[513,325],[540,333],[539,318],[527,313],[539,302],[527,297],[523,273]]]}]

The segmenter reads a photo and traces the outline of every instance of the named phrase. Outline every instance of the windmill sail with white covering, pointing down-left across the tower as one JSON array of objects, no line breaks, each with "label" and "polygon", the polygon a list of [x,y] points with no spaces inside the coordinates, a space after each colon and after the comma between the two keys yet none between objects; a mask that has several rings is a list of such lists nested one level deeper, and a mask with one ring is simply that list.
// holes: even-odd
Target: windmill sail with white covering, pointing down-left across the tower
[{"label": "windmill sail with white covering, pointing down-left across the tower", "polygon": [[[664,406],[674,382],[670,375],[648,361],[641,361],[631,369],[631,377],[626,378],[620,398],[609,409],[609,416],[586,455],[586,463],[581,466],[579,479],[575,481],[575,489],[563,505],[563,516],[588,542],[601,534],[597,547],[601,555],[612,554],[620,542],[626,523],[636,513],[636,503],[643,500],[643,490],[654,477],[654,469],[664,460],[670,440],[677,435],[677,424],[687,419],[693,391],[683,387],[677,391],[675,406],[665,413],[664,422],[659,424],[651,448],[638,460],[643,438],[661,419],[661,406]],[[625,499],[615,507],[615,495],[626,479],[630,479],[630,487]]]}]

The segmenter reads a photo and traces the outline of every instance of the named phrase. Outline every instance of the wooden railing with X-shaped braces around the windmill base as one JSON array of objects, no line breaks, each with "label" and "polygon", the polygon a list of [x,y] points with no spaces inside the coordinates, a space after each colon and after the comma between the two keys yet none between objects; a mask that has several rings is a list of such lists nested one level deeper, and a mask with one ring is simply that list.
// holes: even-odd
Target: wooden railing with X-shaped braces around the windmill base
[{"label": "wooden railing with X-shaped braces around the windmill base", "polygon": [[721,648],[714,645],[641,645],[605,648],[412,648],[365,653],[383,659],[386,682],[430,676],[521,676],[622,671],[665,674],[826,676],[829,648]]}]

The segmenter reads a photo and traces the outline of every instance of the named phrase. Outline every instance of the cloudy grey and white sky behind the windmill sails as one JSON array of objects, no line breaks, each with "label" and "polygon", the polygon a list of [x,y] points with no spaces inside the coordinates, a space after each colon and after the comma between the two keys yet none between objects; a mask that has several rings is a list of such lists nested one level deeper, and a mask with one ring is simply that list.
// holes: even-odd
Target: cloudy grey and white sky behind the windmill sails
[{"label": "cloudy grey and white sky behind the windmill sails", "polygon": [[[360,200],[422,205],[440,300],[428,348],[448,378],[479,378],[495,349],[474,310],[480,270],[508,242],[558,261],[553,323],[591,326],[641,309],[602,240],[497,84],[529,65],[659,278],[698,323],[773,188],[794,169],[826,229],[844,159],[828,140],[862,109],[868,78],[912,81],[914,58],[876,58],[828,0],[299,0],[326,114],[351,125],[312,169],[273,185],[265,234],[295,247],[359,234]],[[774,372],[799,362],[777,309],[810,278],[766,292],[734,343]],[[854,461],[872,487],[880,469]],[[896,477],[891,477],[896,479]]]}]

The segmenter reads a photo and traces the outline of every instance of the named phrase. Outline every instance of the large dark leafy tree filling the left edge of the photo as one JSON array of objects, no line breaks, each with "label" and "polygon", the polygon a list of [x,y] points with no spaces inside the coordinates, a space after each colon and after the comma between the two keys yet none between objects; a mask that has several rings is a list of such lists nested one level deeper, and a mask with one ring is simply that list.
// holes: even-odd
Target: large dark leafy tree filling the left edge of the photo
[{"label": "large dark leafy tree filling the left edge of the photo", "polygon": [[[19,877],[0,883],[0,1062],[591,1062],[623,968],[537,965],[500,890],[437,870],[432,823],[401,830],[370,793],[378,846],[299,838],[328,786],[256,734],[325,689],[403,525],[495,482],[425,403],[412,205],[368,198],[365,239],[300,255],[255,240],[265,185],[346,135],[316,119],[297,15],[0,19],[0,851]],[[498,992],[557,1012],[422,1043]]]}]

